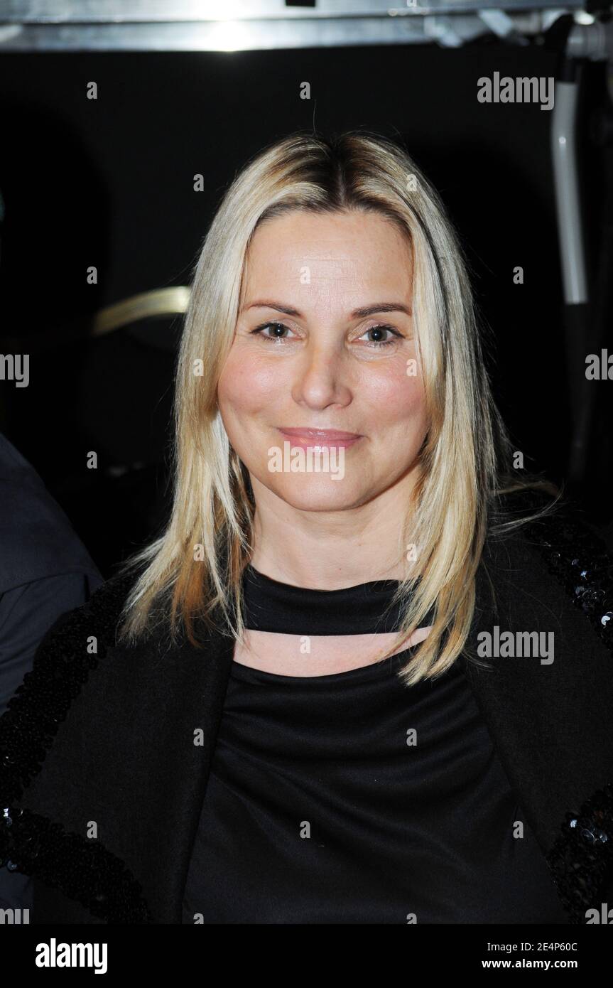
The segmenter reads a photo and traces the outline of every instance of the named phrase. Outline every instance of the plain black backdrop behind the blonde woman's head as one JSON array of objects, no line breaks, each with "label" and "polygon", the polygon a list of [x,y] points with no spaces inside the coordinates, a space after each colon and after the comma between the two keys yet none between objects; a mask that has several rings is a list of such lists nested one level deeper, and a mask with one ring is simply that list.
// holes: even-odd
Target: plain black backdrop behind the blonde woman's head
[{"label": "plain black backdrop behind the blonde woman's head", "polygon": [[[0,59],[3,353],[30,353],[30,386],[0,382],[0,429],[36,467],[105,576],[158,534],[170,507],[173,374],[182,320],[88,339],[101,307],[190,283],[219,200],[246,160],[298,129],[368,127],[402,140],[440,192],[490,327],[498,405],[528,469],[567,476],[572,416],[550,153],[551,112],[477,101],[482,75],[553,76],[531,44],[230,53],[36,53]],[[311,100],[299,98],[311,84]],[[98,100],[86,98],[98,84]],[[590,276],[606,157],[589,136],[604,67],[581,84],[581,181]],[[193,191],[202,173],[205,189]],[[609,176],[610,178],[610,176]],[[86,284],[98,268],[99,284]],[[521,266],[524,285],[513,285]],[[609,320],[610,324],[610,320]],[[7,339],[8,338],[8,339]],[[9,346],[10,344],[10,346]],[[602,342],[606,346],[606,341]],[[585,348],[585,354],[591,352]],[[611,402],[597,388],[575,490],[613,528]],[[86,468],[86,453],[99,469]]]}]

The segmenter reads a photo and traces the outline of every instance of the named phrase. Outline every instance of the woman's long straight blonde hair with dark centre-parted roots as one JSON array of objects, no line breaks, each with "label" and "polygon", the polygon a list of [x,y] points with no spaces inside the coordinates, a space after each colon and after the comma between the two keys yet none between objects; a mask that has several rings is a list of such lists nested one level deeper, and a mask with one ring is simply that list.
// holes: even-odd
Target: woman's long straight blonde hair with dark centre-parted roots
[{"label": "woman's long straight blonde hair with dark centre-parted roots", "polygon": [[117,640],[135,641],[162,622],[172,641],[183,625],[198,646],[197,618],[244,641],[241,582],[254,549],[255,502],[216,390],[251,240],[261,222],[292,209],[378,212],[413,251],[429,428],[412,503],[399,523],[399,552],[415,556],[396,595],[404,618],[397,641],[380,656],[396,651],[433,608],[432,628],[401,673],[412,685],[444,673],[463,651],[491,509],[503,489],[525,484],[509,479],[512,448],[484,365],[467,261],[445,207],[407,151],[370,131],[332,140],[299,131],[276,141],[236,176],[215,213],[192,272],[178,360],[171,518],[163,535],[123,565],[123,572],[139,572]]}]

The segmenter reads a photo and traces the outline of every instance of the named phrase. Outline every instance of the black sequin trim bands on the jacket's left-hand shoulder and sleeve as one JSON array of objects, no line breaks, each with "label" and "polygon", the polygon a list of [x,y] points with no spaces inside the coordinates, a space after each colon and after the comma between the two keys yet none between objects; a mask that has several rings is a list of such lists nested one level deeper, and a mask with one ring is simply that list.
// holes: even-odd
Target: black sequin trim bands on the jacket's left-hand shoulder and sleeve
[{"label": "black sequin trim bands on the jacket's left-hand shoulder and sleeve", "polygon": [[[0,717],[0,866],[36,873],[108,923],[134,924],[153,918],[141,885],[120,859],[99,842],[11,806],[38,775],[72,700],[106,656],[131,582],[124,575],[103,584],[43,639],[32,672]],[[90,635],[98,639],[96,655],[86,648]]]}]

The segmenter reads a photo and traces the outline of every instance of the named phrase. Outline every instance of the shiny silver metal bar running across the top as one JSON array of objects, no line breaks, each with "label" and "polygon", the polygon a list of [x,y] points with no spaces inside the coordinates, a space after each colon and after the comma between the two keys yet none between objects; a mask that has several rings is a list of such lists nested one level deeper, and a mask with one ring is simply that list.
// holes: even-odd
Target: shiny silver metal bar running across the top
[{"label": "shiny silver metal bar running across the top", "polygon": [[0,0],[0,50],[243,51],[541,34],[582,0]]}]

